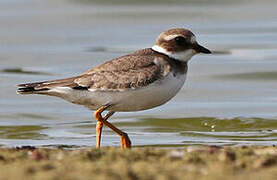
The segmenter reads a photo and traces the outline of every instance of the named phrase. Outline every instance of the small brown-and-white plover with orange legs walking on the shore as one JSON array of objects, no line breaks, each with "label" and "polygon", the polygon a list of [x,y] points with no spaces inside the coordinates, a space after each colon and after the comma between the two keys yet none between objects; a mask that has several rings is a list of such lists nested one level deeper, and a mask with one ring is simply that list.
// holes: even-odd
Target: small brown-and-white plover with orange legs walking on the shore
[{"label": "small brown-and-white plover with orange legs walking on the shore", "polygon": [[[162,32],[152,48],[141,49],[66,79],[19,84],[19,94],[56,96],[96,110],[96,147],[100,148],[103,125],[120,136],[121,147],[130,148],[127,133],[108,121],[115,112],[160,106],[182,88],[188,61],[211,51],[199,45],[195,35],[183,28]],[[102,112],[108,111],[103,117]]]}]

